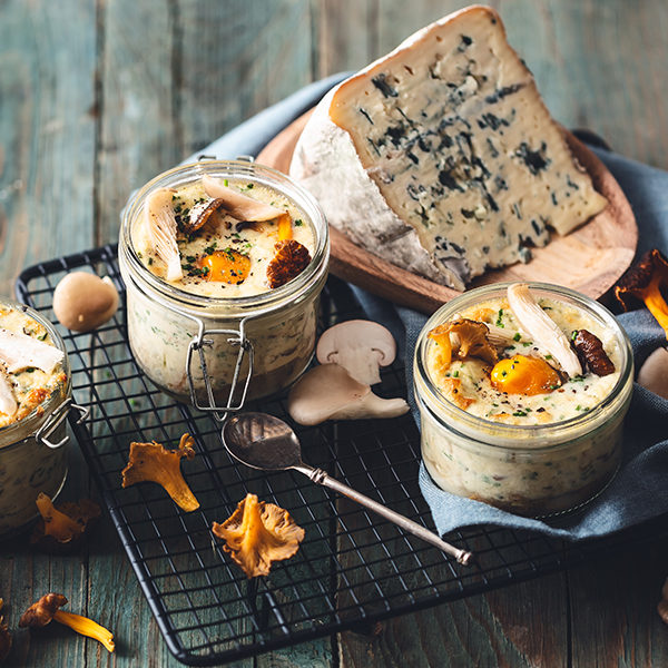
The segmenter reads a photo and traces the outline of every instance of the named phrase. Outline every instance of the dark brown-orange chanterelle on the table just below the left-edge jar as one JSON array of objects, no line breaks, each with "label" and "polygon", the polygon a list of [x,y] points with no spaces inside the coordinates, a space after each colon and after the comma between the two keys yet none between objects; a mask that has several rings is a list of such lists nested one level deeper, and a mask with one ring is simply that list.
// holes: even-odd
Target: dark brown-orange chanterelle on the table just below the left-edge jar
[{"label": "dark brown-orange chanterelle on the table just below the left-edge jar", "polygon": [[51,499],[40,492],[36,503],[41,520],[35,527],[30,542],[48,552],[76,549],[100,517],[100,507],[90,499],[80,499],[78,503],[66,501],[55,507]]}]

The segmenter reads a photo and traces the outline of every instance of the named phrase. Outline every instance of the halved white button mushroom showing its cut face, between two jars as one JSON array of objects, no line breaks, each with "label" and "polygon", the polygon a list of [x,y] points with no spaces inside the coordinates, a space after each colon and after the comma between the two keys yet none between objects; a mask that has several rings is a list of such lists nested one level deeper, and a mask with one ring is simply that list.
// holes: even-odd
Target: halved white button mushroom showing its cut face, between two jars
[{"label": "halved white button mushroom showing its cut face, between two jars", "polygon": [[325,330],[315,352],[321,364],[335,363],[363,383],[381,382],[381,366],[396,356],[396,343],[390,332],[372,321],[354,320]]}]

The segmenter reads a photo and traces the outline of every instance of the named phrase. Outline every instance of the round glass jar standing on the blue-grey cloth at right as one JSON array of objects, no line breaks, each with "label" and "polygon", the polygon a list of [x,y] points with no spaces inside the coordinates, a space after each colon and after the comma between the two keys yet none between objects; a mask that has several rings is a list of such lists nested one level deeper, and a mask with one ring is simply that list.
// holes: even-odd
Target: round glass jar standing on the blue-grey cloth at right
[{"label": "round glass jar standing on the blue-grey cloth at right", "polygon": [[[612,333],[620,373],[611,392],[588,412],[546,424],[504,424],[468,413],[442,393],[428,370],[428,333],[482,302],[503,298],[510,284],[470,292],[442,306],[416,344],[415,400],[424,465],[443,490],[528,517],[566,512],[596,497],[621,461],[622,422],[633,386],[629,340],[598,302],[564,287],[529,284],[531,294],[564,302]],[[591,322],[590,321],[590,322]]]}]

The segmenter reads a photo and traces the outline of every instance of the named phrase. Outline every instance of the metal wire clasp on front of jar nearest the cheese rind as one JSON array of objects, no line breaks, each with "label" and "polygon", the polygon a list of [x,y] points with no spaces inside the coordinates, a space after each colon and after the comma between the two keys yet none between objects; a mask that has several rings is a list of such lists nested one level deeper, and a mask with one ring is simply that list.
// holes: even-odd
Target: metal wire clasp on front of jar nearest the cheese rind
[{"label": "metal wire clasp on front of jar nearest the cheese rind", "polygon": [[[214,418],[218,422],[225,422],[225,420],[227,420],[228,413],[236,413],[240,411],[244,407],[244,403],[246,402],[248,384],[250,383],[250,377],[253,376],[254,351],[253,344],[246,337],[245,325],[246,320],[244,318],[240,321],[238,330],[206,330],[204,326],[204,322],[198,321],[199,331],[188,344],[188,355],[186,357],[186,376],[188,379],[188,386],[190,389],[190,402],[196,409],[213,413]],[[227,395],[227,403],[224,406],[219,406],[216,404],[216,397],[214,396],[212,379],[206,369],[205,347],[213,347],[214,345],[213,338],[207,337],[216,335],[227,335],[227,343],[239,346],[239,352],[237,354],[236,365],[234,367],[234,374],[232,376],[232,382],[229,386],[229,394]],[[206,389],[208,404],[202,404],[197,399],[195,377],[193,376],[193,357],[195,353],[198,353],[199,355],[199,366],[202,367],[202,376],[204,380],[204,386]],[[248,371],[246,373],[246,377],[243,381],[240,381],[239,376],[242,372],[242,364],[246,355],[248,356]],[[238,403],[235,405],[234,396],[237,386],[239,386],[242,383],[242,395],[238,400]]]}]

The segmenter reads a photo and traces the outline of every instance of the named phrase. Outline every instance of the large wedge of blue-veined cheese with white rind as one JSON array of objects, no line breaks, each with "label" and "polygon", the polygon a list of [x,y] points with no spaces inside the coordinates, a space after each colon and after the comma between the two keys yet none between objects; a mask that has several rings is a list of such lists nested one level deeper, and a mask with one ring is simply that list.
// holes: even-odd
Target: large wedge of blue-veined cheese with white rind
[{"label": "large wedge of blue-veined cheese with white rind", "polygon": [[499,14],[480,6],[330,91],[291,175],[356,244],[456,289],[607,206]]}]

